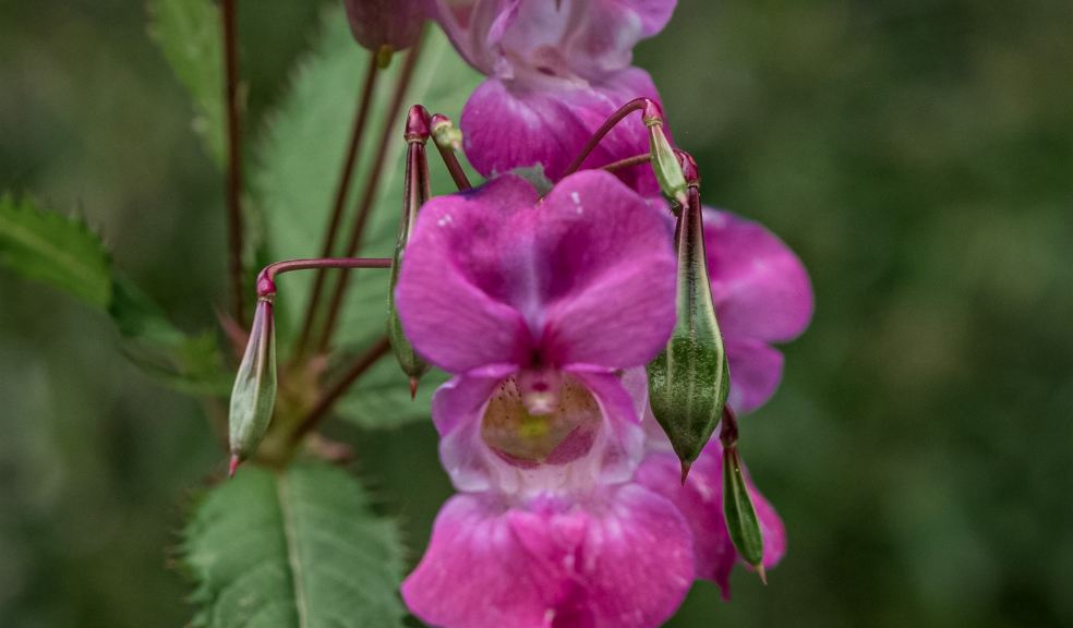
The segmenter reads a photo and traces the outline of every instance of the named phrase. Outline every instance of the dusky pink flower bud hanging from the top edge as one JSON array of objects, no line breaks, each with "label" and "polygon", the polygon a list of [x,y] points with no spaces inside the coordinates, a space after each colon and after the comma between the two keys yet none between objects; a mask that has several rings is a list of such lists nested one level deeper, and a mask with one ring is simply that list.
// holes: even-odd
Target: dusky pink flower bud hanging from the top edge
[{"label": "dusky pink flower bud hanging from the top edge", "polygon": [[386,67],[391,53],[409,48],[421,36],[427,0],[345,0],[350,32]]}]

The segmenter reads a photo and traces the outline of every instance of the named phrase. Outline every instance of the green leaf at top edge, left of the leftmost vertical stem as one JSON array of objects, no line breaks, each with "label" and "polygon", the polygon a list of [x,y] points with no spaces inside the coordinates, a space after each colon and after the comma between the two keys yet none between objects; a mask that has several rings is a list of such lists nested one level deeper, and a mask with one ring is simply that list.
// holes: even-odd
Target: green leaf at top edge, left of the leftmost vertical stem
[{"label": "green leaf at top edge, left of the leftmost vertical stem", "polygon": [[149,0],[149,35],[194,105],[194,131],[224,165],[224,52],[213,0]]}]

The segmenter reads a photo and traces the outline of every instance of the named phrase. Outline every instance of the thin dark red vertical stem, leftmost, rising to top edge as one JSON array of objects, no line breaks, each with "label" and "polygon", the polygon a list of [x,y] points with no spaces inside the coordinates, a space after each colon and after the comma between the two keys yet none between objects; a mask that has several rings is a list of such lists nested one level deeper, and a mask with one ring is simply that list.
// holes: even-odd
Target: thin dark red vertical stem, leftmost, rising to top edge
[{"label": "thin dark red vertical stem, leftmost, rising to top edge", "polygon": [[232,312],[245,325],[242,286],[242,129],[239,116],[239,52],[236,25],[238,0],[224,0],[224,71],[227,100],[227,232],[228,275]]}]

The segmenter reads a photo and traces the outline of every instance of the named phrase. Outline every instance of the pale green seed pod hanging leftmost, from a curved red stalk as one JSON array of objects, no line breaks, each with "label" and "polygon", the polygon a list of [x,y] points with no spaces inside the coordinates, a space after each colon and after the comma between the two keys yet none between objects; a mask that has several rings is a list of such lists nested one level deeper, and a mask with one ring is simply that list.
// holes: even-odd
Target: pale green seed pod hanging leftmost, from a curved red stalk
[{"label": "pale green seed pod hanging leftmost, from a curved red stalk", "polygon": [[274,294],[262,295],[253,316],[250,340],[231,390],[231,474],[261,444],[276,403],[276,327]]}]

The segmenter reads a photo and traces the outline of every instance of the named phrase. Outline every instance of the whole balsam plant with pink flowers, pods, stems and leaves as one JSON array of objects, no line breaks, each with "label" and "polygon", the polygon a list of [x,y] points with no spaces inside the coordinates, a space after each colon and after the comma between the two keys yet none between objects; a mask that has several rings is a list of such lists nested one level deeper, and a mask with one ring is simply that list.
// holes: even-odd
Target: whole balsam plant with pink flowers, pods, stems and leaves
[{"label": "whole balsam plant with pink flowers, pods, stems and leaves", "polygon": [[[236,4],[149,1],[226,181],[225,342],[169,323],[81,222],[0,201],[0,259],[220,418],[229,462],[180,550],[194,625],[643,628],[698,579],[765,579],[786,533],[738,416],[812,292],[775,235],[702,204],[632,65],[674,0],[346,0],[263,121]],[[434,425],[457,494],[409,575],[329,418]]]}]

